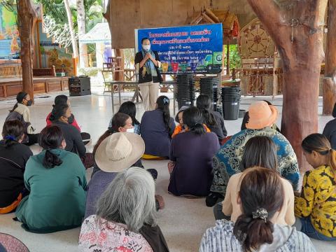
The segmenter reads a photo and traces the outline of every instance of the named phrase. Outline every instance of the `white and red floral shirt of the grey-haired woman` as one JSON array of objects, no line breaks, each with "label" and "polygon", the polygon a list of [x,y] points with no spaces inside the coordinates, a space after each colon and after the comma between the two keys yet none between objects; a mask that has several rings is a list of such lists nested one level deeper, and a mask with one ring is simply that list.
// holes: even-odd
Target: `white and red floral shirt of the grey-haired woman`
[{"label": "white and red floral shirt of the grey-haired woman", "polygon": [[142,235],[127,230],[126,225],[92,215],[80,229],[79,251],[153,252],[153,249]]}]

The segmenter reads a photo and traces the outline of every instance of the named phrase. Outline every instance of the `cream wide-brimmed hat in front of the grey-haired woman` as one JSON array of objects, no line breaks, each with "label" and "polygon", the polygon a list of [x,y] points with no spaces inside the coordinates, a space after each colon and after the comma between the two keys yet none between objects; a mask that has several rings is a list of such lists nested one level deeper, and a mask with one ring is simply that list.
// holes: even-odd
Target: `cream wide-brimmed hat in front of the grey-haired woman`
[{"label": "cream wide-brimmed hat in front of the grey-haired woman", "polygon": [[135,133],[113,133],[99,144],[94,155],[104,172],[122,172],[137,162],[145,152],[144,140]]}]

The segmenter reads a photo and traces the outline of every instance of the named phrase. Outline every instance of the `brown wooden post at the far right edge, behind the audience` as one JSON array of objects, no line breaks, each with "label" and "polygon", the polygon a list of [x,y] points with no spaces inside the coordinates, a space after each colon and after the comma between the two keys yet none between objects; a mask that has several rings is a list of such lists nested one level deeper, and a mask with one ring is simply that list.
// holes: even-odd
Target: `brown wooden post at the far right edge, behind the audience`
[{"label": "brown wooden post at the far right edge, behind the audience", "polygon": [[324,71],[323,115],[331,115],[336,102],[336,0],[329,0]]}]

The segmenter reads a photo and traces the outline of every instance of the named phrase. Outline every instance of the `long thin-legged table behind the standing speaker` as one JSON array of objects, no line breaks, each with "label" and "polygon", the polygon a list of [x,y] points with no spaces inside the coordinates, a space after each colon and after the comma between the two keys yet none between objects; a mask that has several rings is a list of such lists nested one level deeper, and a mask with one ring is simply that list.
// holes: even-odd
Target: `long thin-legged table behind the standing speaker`
[{"label": "long thin-legged table behind the standing speaker", "polygon": [[[125,80],[111,80],[111,81],[106,81],[106,84],[110,84],[112,86],[111,88],[111,99],[112,99],[112,113],[114,115],[114,88],[113,85],[118,85],[118,96],[119,96],[119,106],[121,105],[121,93],[120,93],[120,86],[123,85],[124,87],[135,87],[135,92],[132,97],[132,102],[134,102],[135,99],[137,99],[137,102],[139,102],[139,96],[141,97],[141,94],[139,93],[140,88],[139,88],[139,83],[137,81],[125,81]],[[173,108],[174,108],[174,115],[175,115],[175,99],[176,99],[176,82],[175,81],[163,81],[160,83],[160,86],[162,85],[172,85],[173,86]],[[142,97],[141,97],[142,99]]]}]

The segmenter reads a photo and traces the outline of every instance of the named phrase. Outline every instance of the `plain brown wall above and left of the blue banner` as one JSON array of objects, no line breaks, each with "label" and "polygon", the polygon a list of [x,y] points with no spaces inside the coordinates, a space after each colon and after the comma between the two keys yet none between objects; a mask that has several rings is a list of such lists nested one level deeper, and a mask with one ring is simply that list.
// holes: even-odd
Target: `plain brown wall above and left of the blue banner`
[{"label": "plain brown wall above and left of the blue banner", "polygon": [[[209,0],[109,0],[113,48],[134,48],[134,29],[183,25],[193,8],[209,7]],[[237,15],[241,27],[255,14],[246,0],[213,0],[213,8]],[[265,6],[266,8],[266,6]]]}]

